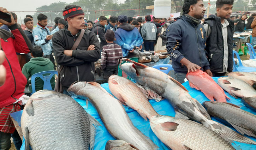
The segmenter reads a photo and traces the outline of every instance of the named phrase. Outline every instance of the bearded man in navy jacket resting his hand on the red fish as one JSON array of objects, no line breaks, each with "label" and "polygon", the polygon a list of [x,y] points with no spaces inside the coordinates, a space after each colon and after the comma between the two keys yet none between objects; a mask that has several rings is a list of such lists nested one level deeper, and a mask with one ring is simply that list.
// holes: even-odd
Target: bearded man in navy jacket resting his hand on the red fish
[{"label": "bearded man in navy jacket resting his hand on the red fish", "polygon": [[168,26],[166,31],[167,51],[171,55],[174,74],[172,77],[184,83],[186,74],[197,69],[212,76],[206,58],[205,30],[200,24],[206,8],[202,0],[185,0],[183,16]]}]

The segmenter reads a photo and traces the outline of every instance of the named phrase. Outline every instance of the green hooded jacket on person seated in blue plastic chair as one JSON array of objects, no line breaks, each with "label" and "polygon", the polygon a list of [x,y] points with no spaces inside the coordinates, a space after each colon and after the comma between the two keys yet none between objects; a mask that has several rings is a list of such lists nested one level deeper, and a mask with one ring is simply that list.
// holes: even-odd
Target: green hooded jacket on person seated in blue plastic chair
[{"label": "green hooded jacket on person seated in blue plastic chair", "polygon": [[[33,74],[36,74],[42,71],[50,71],[50,70],[54,70],[53,63],[50,61],[50,59],[42,58],[42,57],[31,58],[30,61],[26,63],[22,68],[22,73],[25,75],[26,79],[28,80],[28,83],[26,86],[31,84],[31,80],[29,80],[29,78],[33,76]],[[55,76],[52,77],[50,82],[51,82],[52,88],[54,89]],[[35,88],[36,88],[36,91],[43,89],[43,80],[39,77],[35,79]],[[32,92],[31,86],[29,90]]]}]

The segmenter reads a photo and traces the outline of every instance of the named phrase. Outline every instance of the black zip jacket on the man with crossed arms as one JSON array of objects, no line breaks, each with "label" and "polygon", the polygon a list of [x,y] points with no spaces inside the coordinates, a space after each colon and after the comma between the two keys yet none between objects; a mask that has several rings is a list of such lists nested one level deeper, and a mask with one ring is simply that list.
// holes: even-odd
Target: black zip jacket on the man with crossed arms
[{"label": "black zip jacket on the man with crossed arms", "polygon": [[[72,56],[64,54],[64,50],[71,50],[75,40],[78,38],[81,30],[73,36],[68,25],[64,30],[56,32],[52,37],[53,51],[57,64],[64,66],[60,71],[60,82],[67,90],[75,81],[94,81],[95,69],[94,62],[100,59],[100,43],[96,35],[85,30],[83,38],[76,50],[73,50]],[[88,47],[93,44],[95,50],[87,51]]]}]

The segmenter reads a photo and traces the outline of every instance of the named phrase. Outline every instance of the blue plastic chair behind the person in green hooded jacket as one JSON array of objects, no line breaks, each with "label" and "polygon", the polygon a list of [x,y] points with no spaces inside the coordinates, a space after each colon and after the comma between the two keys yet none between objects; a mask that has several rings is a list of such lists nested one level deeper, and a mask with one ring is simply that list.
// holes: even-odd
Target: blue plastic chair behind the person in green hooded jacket
[{"label": "blue plastic chair behind the person in green hooded jacket", "polygon": [[[46,75],[43,76],[43,74],[49,74],[50,75]],[[58,75],[58,71],[42,71],[42,72],[38,72],[36,74],[33,74],[33,76],[31,77],[31,85],[32,85],[32,93],[31,95],[36,92],[36,88],[35,88],[35,79],[36,77],[40,77],[43,80],[43,89],[45,90],[54,90],[52,89],[52,85],[50,84],[50,79],[52,79],[53,75],[57,74]]]}]

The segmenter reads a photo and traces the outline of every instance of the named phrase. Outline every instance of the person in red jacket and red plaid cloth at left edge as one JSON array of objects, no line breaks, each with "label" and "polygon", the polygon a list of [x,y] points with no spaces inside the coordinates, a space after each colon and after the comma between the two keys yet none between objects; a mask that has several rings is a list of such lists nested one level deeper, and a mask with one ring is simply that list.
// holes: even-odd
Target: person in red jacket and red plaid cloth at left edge
[{"label": "person in red jacket and red plaid cloth at left edge", "polygon": [[[0,7],[0,11],[10,13],[2,7]],[[15,131],[15,127],[10,113],[21,110],[22,102],[19,101],[19,98],[24,95],[23,91],[26,85],[26,78],[21,72],[16,52],[29,53],[30,50],[32,51],[29,38],[15,23],[13,16],[11,18],[11,23],[0,19],[0,23],[7,25],[11,30],[11,32],[8,32],[0,29],[0,48],[5,53],[4,61],[1,61],[1,63],[6,69],[6,81],[0,86],[0,149],[11,147],[10,138]],[[18,140],[21,141],[19,137],[14,139],[14,141]]]}]

